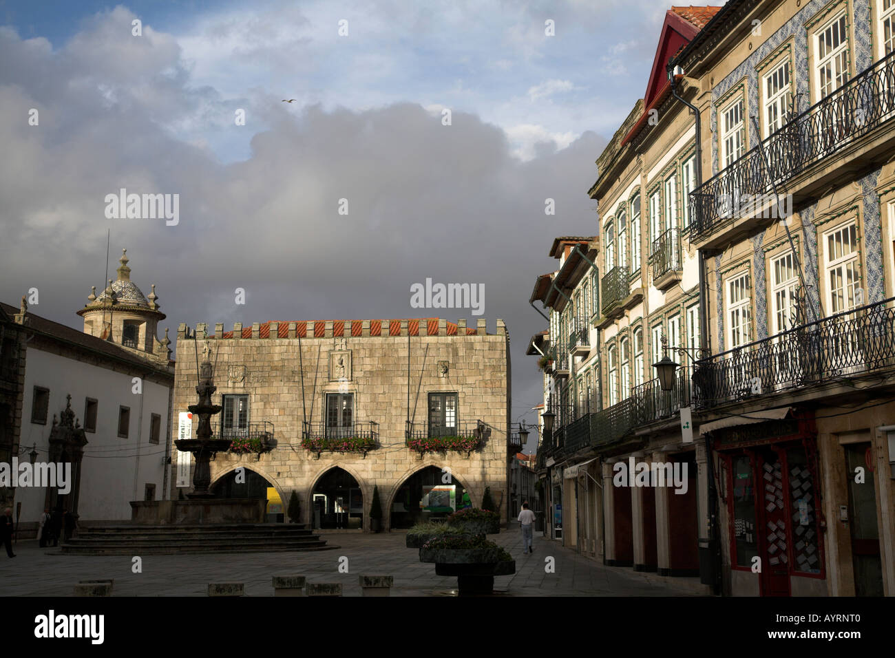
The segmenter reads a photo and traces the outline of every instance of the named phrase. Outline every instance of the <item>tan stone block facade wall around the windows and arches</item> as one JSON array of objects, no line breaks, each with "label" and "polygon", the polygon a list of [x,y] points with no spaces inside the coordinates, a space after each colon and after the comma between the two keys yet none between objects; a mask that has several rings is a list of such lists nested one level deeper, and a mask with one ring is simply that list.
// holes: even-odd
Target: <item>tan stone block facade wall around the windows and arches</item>
[{"label": "tan stone block facade wall around the windows and arches", "polygon": [[[195,350],[198,346],[201,353],[205,340],[215,367],[213,401],[221,404],[222,396],[228,394],[248,395],[249,422],[273,423],[277,442],[276,448],[261,454],[257,461],[254,455],[217,455],[211,463],[213,482],[237,466],[245,466],[276,487],[285,506],[295,490],[303,522],[309,523],[314,483],[333,466],[340,466],[361,487],[365,528],[369,528],[373,486],[379,485],[383,526],[388,528],[392,498],[405,479],[426,466],[449,467],[476,507],[485,487],[490,486],[506,520],[511,403],[508,335],[502,320],[497,320],[492,334],[486,333],[485,320],[479,320],[474,329],[467,329],[465,320],[456,325],[446,320],[269,322],[255,323],[251,329],[237,323],[233,332],[225,332],[218,324],[213,336],[206,336],[205,325],[198,325],[195,331],[181,325],[172,442],[178,414],[197,399]],[[455,391],[458,421],[481,420],[487,426],[484,445],[468,457],[465,452],[447,452],[426,453],[421,459],[405,446],[405,422],[409,418],[416,429],[425,429],[428,394]],[[379,423],[379,448],[366,457],[323,452],[318,459],[302,448],[303,421],[322,423],[325,396],[336,392],[354,394],[356,423]],[[193,435],[197,424],[193,423]],[[219,415],[213,418],[212,427],[217,433]],[[178,495],[176,462],[174,449],[172,499]]]}]

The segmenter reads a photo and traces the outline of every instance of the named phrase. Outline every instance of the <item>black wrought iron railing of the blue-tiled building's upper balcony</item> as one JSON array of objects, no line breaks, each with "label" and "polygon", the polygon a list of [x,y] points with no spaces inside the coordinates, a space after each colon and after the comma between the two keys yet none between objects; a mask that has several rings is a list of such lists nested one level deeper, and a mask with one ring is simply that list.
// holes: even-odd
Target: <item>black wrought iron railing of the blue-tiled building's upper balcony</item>
[{"label": "black wrought iron railing of the blue-tiled building's upper balcony", "polygon": [[793,117],[760,146],[690,192],[689,239],[707,237],[729,219],[748,216],[755,206],[762,208],[763,203],[755,200],[772,192],[771,182],[785,184],[892,117],[895,52]]}]

